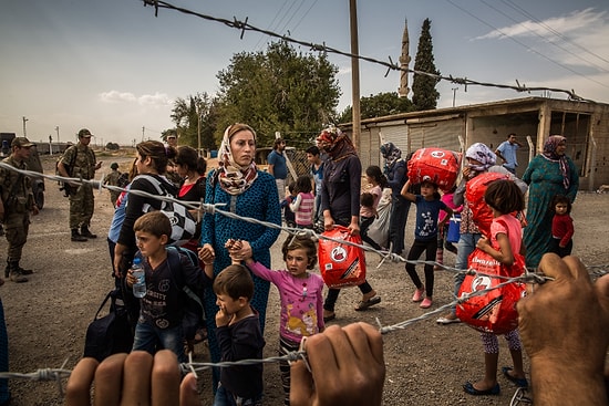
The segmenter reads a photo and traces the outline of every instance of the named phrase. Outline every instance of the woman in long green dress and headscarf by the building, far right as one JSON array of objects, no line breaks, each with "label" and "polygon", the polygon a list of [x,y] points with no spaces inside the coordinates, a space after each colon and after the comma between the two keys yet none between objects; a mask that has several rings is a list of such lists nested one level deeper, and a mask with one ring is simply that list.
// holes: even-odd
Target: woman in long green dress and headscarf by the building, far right
[{"label": "woman in long green dress and headscarf by the building, far right", "polygon": [[523,241],[527,249],[527,268],[537,268],[541,256],[549,251],[551,241],[551,200],[565,195],[575,201],[579,188],[577,168],[568,156],[567,138],[551,135],[544,145],[544,152],[528,164],[523,180],[529,185],[527,221]]}]

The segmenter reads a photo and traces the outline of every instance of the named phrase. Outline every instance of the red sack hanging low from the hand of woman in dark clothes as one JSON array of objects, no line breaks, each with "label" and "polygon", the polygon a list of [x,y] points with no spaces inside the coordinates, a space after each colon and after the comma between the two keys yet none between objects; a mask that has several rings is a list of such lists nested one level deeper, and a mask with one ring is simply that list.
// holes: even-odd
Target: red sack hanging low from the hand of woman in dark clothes
[{"label": "red sack hanging low from the hand of woman in dark clothes", "polygon": [[[321,236],[362,243],[360,236],[350,236],[349,229],[343,226],[334,226]],[[320,238],[318,257],[321,278],[328,288],[357,287],[365,281],[365,254],[362,248]]]}]

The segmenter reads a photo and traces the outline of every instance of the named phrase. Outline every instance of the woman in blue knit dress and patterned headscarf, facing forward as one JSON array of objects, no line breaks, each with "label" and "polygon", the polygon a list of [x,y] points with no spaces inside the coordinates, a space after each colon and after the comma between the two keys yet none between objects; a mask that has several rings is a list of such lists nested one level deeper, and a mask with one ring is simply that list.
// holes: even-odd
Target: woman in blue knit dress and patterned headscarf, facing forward
[{"label": "woman in blue knit dress and patterned headscarf, facing forward", "polygon": [[[218,152],[218,168],[207,176],[206,204],[225,204],[219,207],[237,216],[281,225],[279,195],[272,175],[258,170],[256,155],[256,132],[246,124],[234,124],[224,132]],[[279,229],[233,219],[221,214],[206,214],[203,218],[200,246],[211,249],[215,254],[214,274],[230,264],[225,243],[228,239],[242,240],[241,252],[237,257],[254,258],[270,268],[270,247],[277,240]],[[259,313],[260,327],[265,330],[267,301],[270,283],[252,275],[254,298],[251,306]],[[205,292],[205,315],[207,339],[211,362],[220,361],[220,350],[216,341],[216,295],[211,288]],[[214,368],[214,392],[219,378]]]}]

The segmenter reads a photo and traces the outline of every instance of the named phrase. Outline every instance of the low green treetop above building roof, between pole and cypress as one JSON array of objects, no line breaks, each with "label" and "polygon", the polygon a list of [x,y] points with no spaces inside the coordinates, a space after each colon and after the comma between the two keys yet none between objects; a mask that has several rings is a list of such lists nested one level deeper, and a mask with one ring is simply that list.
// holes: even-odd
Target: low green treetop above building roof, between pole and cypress
[{"label": "low green treetop above building roof, between pole and cypress", "polygon": [[[382,117],[385,115],[412,112],[414,106],[406,97],[398,93],[386,92],[360,98],[360,115],[362,119]],[[353,121],[353,108],[348,106],[340,115],[339,123]]]}]

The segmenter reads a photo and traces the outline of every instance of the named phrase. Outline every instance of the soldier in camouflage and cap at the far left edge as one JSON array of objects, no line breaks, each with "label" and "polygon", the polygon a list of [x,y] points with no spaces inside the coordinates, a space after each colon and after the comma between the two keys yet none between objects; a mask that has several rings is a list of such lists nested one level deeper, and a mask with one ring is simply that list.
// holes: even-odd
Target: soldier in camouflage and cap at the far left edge
[{"label": "soldier in camouflage and cap at the far left edge", "polygon": [[[28,169],[25,160],[30,157],[32,143],[25,137],[16,137],[11,143],[12,153],[2,163],[18,169]],[[30,229],[30,211],[38,215],[38,206],[34,202],[31,180],[17,170],[0,168],[0,219],[4,222],[9,251],[7,254],[7,268],[4,278],[10,278],[17,283],[28,282],[24,275],[32,270],[19,266],[23,246],[28,240]]]}]

